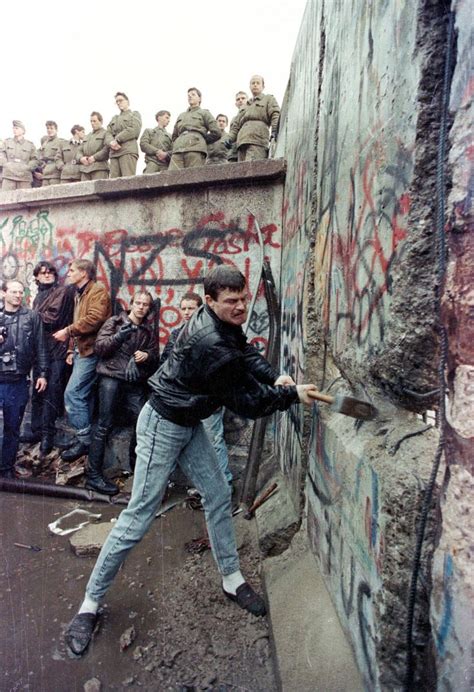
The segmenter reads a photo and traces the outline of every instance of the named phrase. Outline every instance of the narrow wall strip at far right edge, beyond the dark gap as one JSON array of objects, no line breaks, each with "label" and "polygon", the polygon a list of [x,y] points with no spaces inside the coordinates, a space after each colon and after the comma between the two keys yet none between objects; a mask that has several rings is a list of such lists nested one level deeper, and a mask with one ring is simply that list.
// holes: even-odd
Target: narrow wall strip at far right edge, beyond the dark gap
[{"label": "narrow wall strip at far right edge, beyond the dark gap", "polygon": [[451,85],[448,264],[443,292],[448,336],[446,492],[433,564],[430,618],[438,690],[474,688],[474,54],[472,3],[455,0],[456,66]]}]

